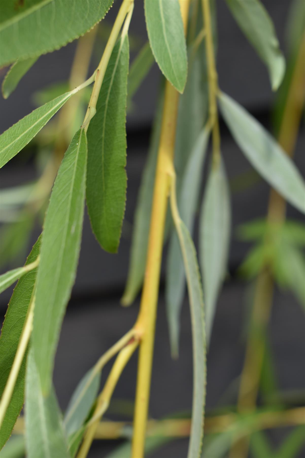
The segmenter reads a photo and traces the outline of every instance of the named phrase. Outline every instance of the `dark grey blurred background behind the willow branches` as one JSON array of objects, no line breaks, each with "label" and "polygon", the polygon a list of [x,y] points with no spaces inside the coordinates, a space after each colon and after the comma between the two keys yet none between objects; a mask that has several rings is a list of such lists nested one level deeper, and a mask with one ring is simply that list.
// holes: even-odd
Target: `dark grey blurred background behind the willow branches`
[{"label": "dark grey blurred background behind the willow branches", "polygon": [[[106,16],[108,22],[115,17],[118,1],[115,3]],[[263,3],[273,18],[281,46],[284,48],[284,26],[290,1],[265,0]],[[225,2],[218,0],[217,7],[219,34],[217,66],[220,87],[245,105],[270,128],[270,112],[274,95],[270,89],[266,68],[234,23]],[[147,39],[142,0],[136,0],[131,33],[142,37],[143,42]],[[102,46],[101,44],[101,49]],[[6,101],[1,99],[1,131],[35,108],[31,103],[31,94],[37,88],[68,78],[74,49],[75,43],[72,43],[53,54],[42,56],[23,78],[16,92]],[[92,65],[93,69],[94,64]],[[127,117],[127,224],[125,224],[117,255],[110,255],[100,250],[91,234],[88,218],[85,216],[78,275],[63,322],[54,372],[55,386],[63,409],[67,406],[68,399],[84,372],[133,325],[137,317],[139,301],[125,309],[120,306],[120,297],[126,280],[131,224],[147,154],[159,79],[160,72],[155,65],[134,98],[136,110]],[[302,125],[295,161],[303,175],[305,174],[304,139],[305,131]],[[242,171],[250,169],[222,122],[221,142],[229,178],[234,178]],[[31,161],[25,164],[16,160],[12,165],[5,166],[2,171],[1,186],[24,183],[32,178],[33,174],[35,172]],[[263,181],[232,196],[230,278],[224,286],[217,306],[208,354],[207,411],[219,405],[236,402],[237,377],[242,368],[244,354],[248,289],[248,285],[238,278],[237,267],[247,253],[249,245],[238,242],[234,231],[238,224],[264,216],[267,204],[268,185]],[[291,207],[288,208],[288,215],[291,218],[300,218],[300,213]],[[38,233],[39,228],[33,234],[32,242],[35,241]],[[195,240],[196,237],[195,234]],[[189,410],[192,399],[188,301],[185,299],[182,312],[180,357],[178,361],[173,361],[169,354],[163,281],[162,274],[150,406],[150,414],[153,418],[160,418],[173,411]],[[8,300],[9,294],[4,293],[1,297],[2,313]],[[301,390],[304,393],[304,314],[291,295],[276,290],[269,331],[280,388],[287,391]],[[118,383],[114,398],[129,400],[134,398],[136,368],[137,357],[134,356]],[[103,372],[103,382],[108,371],[109,367]],[[271,435],[273,442],[278,443],[285,433],[284,430],[278,431],[277,434],[273,433]],[[89,456],[103,457],[116,445],[110,441],[97,442]],[[186,453],[187,441],[180,440],[164,447],[161,452],[153,456],[179,458],[186,456]]]}]

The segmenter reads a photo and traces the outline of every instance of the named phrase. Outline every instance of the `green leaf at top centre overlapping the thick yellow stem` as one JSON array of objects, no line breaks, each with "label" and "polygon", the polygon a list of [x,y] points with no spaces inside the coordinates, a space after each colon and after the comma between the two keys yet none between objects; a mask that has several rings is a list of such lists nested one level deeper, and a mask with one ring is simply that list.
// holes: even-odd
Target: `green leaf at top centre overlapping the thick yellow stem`
[{"label": "green leaf at top centre overlapping the thick yellow stem", "polygon": [[145,0],[149,43],[163,75],[183,93],[187,55],[179,0]]}]

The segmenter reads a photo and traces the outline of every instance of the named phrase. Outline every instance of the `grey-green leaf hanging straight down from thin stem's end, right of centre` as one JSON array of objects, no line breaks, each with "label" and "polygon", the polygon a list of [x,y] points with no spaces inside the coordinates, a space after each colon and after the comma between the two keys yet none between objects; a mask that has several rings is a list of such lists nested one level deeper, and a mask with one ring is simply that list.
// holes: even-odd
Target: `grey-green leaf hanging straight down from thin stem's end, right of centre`
[{"label": "grey-green leaf hanging straight down from thin stem's end, right of centre", "polygon": [[226,275],[231,208],[223,164],[212,165],[200,214],[200,263],[205,292],[206,339],[210,342],[216,302]]}]

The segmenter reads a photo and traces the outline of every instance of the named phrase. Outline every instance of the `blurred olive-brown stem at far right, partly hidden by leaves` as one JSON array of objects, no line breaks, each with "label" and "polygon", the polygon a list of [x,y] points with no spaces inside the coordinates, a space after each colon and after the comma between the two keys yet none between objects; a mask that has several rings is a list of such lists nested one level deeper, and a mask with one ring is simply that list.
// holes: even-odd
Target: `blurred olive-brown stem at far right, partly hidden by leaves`
[{"label": "blurred olive-brown stem at far right, partly hidden by leaves", "polygon": [[[300,42],[300,49],[279,132],[279,144],[290,157],[292,157],[294,153],[304,101],[305,34]],[[270,191],[267,222],[271,224],[284,223],[285,212],[285,200],[272,189]],[[266,240],[266,243],[268,243],[268,240]],[[247,340],[246,356],[237,401],[237,410],[239,412],[255,409],[263,366],[265,334],[272,308],[273,286],[273,277],[266,266],[258,275],[256,284],[251,329]],[[238,441],[231,450],[231,458],[246,458],[248,442],[248,438]]]}]

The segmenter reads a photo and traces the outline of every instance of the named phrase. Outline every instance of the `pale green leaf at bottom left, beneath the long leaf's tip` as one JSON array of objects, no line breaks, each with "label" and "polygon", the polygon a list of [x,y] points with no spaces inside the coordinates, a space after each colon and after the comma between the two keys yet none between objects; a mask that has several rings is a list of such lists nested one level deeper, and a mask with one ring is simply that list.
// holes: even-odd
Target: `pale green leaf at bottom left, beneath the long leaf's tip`
[{"label": "pale green leaf at bottom left, beneath the long leaf's tip", "polygon": [[29,457],[68,458],[63,421],[54,388],[44,397],[33,349],[26,365],[26,450]]}]

